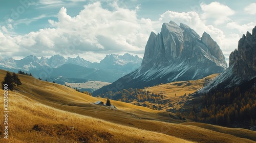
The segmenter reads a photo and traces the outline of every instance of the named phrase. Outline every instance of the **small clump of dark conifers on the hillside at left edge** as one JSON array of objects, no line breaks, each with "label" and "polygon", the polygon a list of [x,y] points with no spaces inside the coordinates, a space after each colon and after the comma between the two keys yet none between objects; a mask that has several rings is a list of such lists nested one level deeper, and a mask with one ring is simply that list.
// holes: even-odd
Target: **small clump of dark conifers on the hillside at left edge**
[{"label": "small clump of dark conifers on the hillside at left edge", "polygon": [[7,84],[8,89],[12,91],[16,85],[22,85],[22,82],[15,73],[11,75],[11,73],[7,71],[4,81],[2,82],[2,89],[4,89],[5,84]]}]

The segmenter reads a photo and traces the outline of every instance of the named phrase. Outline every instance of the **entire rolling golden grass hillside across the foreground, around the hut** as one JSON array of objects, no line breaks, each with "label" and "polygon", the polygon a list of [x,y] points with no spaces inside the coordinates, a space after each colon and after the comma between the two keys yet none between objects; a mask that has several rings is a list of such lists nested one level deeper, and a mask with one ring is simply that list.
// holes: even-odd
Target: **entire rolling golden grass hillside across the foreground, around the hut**
[{"label": "entire rolling golden grass hillside across the foreground, around the hut", "polygon": [[[0,70],[0,82],[6,71]],[[255,142],[256,132],[175,120],[168,112],[111,100],[112,109],[72,88],[18,75],[9,92],[9,139],[0,142]],[[3,101],[4,91],[1,89]],[[3,113],[3,102],[0,104]],[[254,141],[253,141],[254,140]]]}]

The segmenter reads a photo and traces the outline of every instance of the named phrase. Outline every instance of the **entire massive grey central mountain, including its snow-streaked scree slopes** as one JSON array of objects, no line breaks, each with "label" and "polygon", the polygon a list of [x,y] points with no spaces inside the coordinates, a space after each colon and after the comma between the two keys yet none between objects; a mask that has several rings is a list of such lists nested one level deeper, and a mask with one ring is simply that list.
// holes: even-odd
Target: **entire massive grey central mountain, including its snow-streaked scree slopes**
[{"label": "entire massive grey central mountain, including its snow-streaked scree slopes", "polygon": [[[151,33],[141,67],[102,87],[94,95],[120,88],[144,88],[172,81],[196,80],[222,73],[227,67],[219,45],[206,32],[175,22],[163,23],[160,34]],[[127,80],[129,79],[129,80]],[[118,87],[118,88],[117,88]]]}]

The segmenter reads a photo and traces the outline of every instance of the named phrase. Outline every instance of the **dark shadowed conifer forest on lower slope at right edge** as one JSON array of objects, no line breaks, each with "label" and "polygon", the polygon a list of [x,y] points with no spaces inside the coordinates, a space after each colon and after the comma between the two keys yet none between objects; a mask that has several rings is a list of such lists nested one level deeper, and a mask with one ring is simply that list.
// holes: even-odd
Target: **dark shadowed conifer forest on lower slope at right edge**
[{"label": "dark shadowed conifer forest on lower slope at right edge", "polygon": [[219,90],[203,96],[203,109],[199,112],[195,107],[188,118],[209,124],[229,126],[234,121],[256,121],[256,86],[246,91],[240,88]]}]

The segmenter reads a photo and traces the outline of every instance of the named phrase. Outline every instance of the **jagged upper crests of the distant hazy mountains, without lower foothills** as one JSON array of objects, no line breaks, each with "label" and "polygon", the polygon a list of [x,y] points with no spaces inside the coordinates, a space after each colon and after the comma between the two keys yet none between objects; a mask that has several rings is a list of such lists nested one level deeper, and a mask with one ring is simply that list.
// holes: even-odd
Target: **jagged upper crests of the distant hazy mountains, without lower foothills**
[{"label": "jagged upper crests of the distant hazy mountains, without lower foothills", "polygon": [[[34,68],[40,69],[41,66],[49,66],[51,68],[56,68],[63,64],[71,63],[71,64],[80,65],[83,67],[97,68],[97,69],[106,69],[106,68],[112,69],[115,66],[119,66],[119,69],[122,70],[123,66],[127,66],[127,65],[134,65],[134,66],[137,65],[139,67],[141,62],[142,62],[142,59],[139,58],[137,55],[133,56],[127,53],[122,56],[116,55],[116,54],[106,55],[106,57],[102,61],[100,61],[100,63],[95,63],[95,62],[92,63],[90,61],[84,60],[83,58],[80,58],[79,56],[77,56],[76,58],[68,57],[68,59],[65,59],[61,55],[54,55],[50,58],[41,57],[40,59],[38,59],[36,56],[30,55],[21,60],[14,60],[13,58],[9,58],[9,59],[1,58],[0,66],[10,68],[10,69],[13,68],[13,69],[22,69],[22,70],[29,71],[30,69],[34,69]],[[124,71],[124,69],[122,71]]]}]

